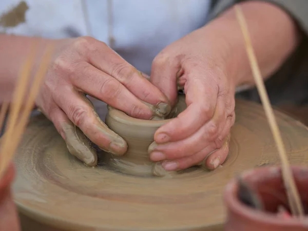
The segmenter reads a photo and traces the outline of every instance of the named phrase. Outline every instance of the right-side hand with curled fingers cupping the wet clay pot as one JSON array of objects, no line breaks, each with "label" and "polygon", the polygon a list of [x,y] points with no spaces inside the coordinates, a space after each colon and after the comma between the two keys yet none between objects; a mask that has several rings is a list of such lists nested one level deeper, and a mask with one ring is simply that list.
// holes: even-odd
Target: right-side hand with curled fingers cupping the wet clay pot
[{"label": "right-side hand with curled fingers cupping the wet clay pot", "polygon": [[210,32],[201,28],[188,34],[162,50],[152,64],[150,81],[172,105],[177,85],[186,94],[187,109],[155,133],[158,146],[150,159],[162,161],[166,170],[203,161],[208,169],[215,169],[228,155],[235,122],[235,81],[228,75],[227,43]]}]

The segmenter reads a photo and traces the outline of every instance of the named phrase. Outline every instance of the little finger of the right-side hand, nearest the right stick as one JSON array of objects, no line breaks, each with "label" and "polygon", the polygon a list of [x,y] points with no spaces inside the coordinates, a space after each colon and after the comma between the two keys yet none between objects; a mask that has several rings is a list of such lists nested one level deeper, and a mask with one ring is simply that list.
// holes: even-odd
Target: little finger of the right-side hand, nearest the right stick
[{"label": "little finger of the right-side hand, nearest the right stick", "polygon": [[224,145],[211,153],[205,160],[205,167],[209,170],[214,170],[226,160],[229,153],[230,136],[227,136]]}]

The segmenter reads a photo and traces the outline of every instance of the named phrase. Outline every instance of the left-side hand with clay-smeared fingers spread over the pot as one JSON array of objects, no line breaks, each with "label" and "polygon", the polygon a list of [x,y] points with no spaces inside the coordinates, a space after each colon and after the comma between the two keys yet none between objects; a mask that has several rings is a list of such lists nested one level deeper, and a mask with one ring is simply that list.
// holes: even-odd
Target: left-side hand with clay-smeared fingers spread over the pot
[{"label": "left-side hand with clay-smeared fingers spread over the pot", "polygon": [[53,122],[70,153],[86,165],[97,164],[87,138],[114,155],[127,150],[126,142],[100,120],[86,94],[134,118],[169,113],[165,95],[105,43],[91,37],[56,43],[36,105]]}]

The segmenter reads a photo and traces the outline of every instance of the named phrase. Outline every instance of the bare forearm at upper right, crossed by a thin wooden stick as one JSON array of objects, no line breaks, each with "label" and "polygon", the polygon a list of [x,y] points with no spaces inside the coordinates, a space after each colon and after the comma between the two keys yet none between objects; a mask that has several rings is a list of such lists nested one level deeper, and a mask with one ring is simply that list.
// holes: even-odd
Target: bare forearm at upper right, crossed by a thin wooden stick
[{"label": "bare forearm at upper right, crossed by a thin wooden stick", "polygon": [[[275,72],[294,51],[300,36],[291,16],[262,1],[241,3],[258,64],[264,79]],[[234,8],[213,20],[204,31],[224,47],[225,72],[236,86],[254,84],[243,35]],[[219,39],[217,39],[219,38]]]}]

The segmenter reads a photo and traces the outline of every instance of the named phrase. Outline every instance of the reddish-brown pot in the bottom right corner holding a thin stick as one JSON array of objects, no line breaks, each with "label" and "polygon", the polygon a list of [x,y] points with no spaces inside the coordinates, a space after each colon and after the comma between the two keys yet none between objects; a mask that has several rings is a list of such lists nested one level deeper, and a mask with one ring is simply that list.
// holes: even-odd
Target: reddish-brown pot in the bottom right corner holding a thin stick
[{"label": "reddish-brown pot in the bottom right corner holding a thin stick", "polygon": [[[308,168],[293,166],[295,182],[302,203],[308,205]],[[224,192],[224,202],[227,207],[226,231],[303,231],[308,230],[308,218],[302,220],[293,217],[282,217],[277,211],[281,206],[288,208],[287,197],[279,166],[258,167],[248,170],[240,176],[241,182],[254,192],[245,195],[245,200],[239,196],[239,179],[229,182]],[[242,185],[242,184],[241,184]],[[261,202],[261,210],[248,206],[247,198]],[[245,203],[243,202],[245,201]],[[256,202],[256,200],[255,200]]]}]

